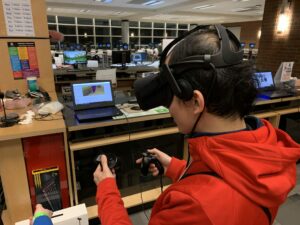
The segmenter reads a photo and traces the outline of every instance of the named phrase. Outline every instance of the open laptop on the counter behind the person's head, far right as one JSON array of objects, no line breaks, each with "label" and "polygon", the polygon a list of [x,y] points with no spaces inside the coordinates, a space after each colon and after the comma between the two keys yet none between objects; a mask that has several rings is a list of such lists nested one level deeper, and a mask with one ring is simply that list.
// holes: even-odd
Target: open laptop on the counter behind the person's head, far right
[{"label": "open laptop on the counter behind the person's head, far right", "polygon": [[258,97],[275,99],[293,96],[293,93],[286,90],[277,90],[274,84],[272,72],[256,72],[255,77],[258,81]]}]

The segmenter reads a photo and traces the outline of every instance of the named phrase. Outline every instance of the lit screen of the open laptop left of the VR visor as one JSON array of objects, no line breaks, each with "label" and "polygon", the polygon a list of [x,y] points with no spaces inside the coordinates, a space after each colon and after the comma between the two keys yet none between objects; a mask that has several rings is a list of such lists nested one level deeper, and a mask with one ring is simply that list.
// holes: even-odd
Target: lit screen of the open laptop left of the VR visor
[{"label": "lit screen of the open laptop left of the VR visor", "polygon": [[114,106],[111,81],[92,81],[72,84],[74,109]]}]

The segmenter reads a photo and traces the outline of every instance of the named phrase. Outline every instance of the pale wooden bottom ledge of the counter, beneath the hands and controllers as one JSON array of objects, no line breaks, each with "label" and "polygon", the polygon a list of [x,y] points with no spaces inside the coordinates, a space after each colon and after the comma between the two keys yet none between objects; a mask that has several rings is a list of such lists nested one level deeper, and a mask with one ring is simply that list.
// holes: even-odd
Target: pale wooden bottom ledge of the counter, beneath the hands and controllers
[{"label": "pale wooden bottom ledge of the counter, beneath the hands and controllers", "polygon": [[[168,186],[164,186],[164,189],[166,189],[167,187]],[[131,208],[134,206],[141,205],[142,203],[145,204],[148,202],[155,201],[160,194],[161,194],[160,188],[155,188],[149,191],[142,192],[143,201],[141,199],[141,193],[123,197],[122,200],[124,201],[125,208]],[[98,206],[94,205],[94,206],[87,207],[87,212],[88,212],[89,219],[94,219],[98,217]]]}]

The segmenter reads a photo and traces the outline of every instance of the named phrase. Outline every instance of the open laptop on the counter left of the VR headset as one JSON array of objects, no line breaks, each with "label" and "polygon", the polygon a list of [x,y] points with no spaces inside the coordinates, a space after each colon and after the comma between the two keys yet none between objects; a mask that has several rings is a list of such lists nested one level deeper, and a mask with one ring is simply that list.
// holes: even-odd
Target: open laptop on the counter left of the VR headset
[{"label": "open laptop on the counter left of the VR headset", "polygon": [[78,121],[111,119],[123,113],[115,106],[109,80],[72,83],[75,117]]}]

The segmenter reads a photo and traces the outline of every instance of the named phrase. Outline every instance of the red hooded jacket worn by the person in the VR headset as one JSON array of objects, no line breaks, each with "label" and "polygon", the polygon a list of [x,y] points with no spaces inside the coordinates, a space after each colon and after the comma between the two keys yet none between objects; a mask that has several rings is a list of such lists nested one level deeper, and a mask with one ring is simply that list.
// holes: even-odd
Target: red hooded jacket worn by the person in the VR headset
[{"label": "red hooded jacket worn by the person in the VR headset", "polygon": [[[172,158],[166,175],[173,184],[157,199],[150,225],[268,225],[296,183],[300,145],[262,120],[263,126],[189,139],[192,163]],[[218,177],[199,174],[213,171]],[[181,179],[181,176],[187,176]],[[116,181],[98,184],[103,225],[132,224]]]}]

